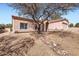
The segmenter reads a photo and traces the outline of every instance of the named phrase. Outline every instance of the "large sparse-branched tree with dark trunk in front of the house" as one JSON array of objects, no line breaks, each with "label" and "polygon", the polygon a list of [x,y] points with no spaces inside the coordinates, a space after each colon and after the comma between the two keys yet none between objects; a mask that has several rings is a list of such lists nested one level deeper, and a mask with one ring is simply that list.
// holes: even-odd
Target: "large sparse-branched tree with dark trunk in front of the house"
[{"label": "large sparse-branched tree with dark trunk in front of the house", "polygon": [[79,6],[77,3],[14,3],[8,5],[16,9],[19,15],[33,19],[38,25],[38,32],[40,32],[40,24],[43,24],[45,20],[50,20],[56,14],[67,14],[68,11]]}]

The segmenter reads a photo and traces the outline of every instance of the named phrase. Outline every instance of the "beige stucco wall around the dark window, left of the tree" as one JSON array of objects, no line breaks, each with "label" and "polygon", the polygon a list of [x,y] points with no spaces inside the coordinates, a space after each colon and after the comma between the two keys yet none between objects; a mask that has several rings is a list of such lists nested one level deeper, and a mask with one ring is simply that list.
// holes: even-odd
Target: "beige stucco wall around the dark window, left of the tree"
[{"label": "beige stucco wall around the dark window, left of the tree", "polygon": [[[24,20],[17,20],[13,19],[13,32],[27,32],[27,31],[35,31],[34,24],[30,21],[24,21]],[[27,23],[27,29],[20,29],[20,23]]]}]

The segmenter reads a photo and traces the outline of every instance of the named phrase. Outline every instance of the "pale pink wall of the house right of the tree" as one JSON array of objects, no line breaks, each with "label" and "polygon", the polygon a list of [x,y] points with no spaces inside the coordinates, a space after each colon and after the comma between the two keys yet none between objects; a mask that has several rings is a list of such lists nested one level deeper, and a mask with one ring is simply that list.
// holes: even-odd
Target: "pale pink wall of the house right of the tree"
[{"label": "pale pink wall of the house right of the tree", "polygon": [[68,23],[66,21],[61,21],[61,22],[55,22],[55,23],[49,23],[48,25],[48,31],[56,31],[56,30],[67,30],[68,29],[68,24],[63,24],[63,22]]}]

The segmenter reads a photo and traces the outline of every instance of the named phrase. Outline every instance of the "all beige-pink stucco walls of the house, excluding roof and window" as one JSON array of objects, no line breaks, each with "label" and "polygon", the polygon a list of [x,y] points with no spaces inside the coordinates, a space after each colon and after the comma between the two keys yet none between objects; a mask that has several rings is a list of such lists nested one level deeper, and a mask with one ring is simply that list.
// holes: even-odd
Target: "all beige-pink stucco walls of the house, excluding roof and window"
[{"label": "all beige-pink stucco walls of the house, excluding roof and window", "polygon": [[[66,24],[63,24],[66,23]],[[13,19],[13,32],[27,32],[27,31],[36,31],[35,30],[35,23],[31,21],[25,21],[25,20],[17,20]],[[20,29],[20,23],[27,23],[27,29]],[[68,22],[67,21],[59,21],[59,22],[53,22],[49,23],[48,30],[47,31],[55,31],[55,30],[67,30],[68,29]],[[42,28],[41,28],[42,30]],[[44,23],[44,31],[46,31],[46,25]]]}]

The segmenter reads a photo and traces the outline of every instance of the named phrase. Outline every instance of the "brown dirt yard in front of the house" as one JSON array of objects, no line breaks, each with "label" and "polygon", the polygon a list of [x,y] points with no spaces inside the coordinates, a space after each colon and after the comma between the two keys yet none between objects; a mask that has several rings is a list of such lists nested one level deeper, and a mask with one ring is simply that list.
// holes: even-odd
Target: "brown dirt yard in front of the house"
[{"label": "brown dirt yard in front of the house", "polygon": [[0,34],[1,56],[78,56],[79,28],[64,32]]}]

